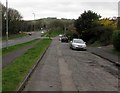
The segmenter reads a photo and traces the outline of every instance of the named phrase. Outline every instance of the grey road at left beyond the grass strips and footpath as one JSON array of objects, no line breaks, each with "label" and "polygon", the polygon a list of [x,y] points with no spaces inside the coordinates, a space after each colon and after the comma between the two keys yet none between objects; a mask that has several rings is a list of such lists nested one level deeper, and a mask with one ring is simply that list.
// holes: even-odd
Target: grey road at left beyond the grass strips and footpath
[{"label": "grey road at left beyond the grass strips and footpath", "polygon": [[[33,32],[33,34],[31,36],[27,35],[27,36],[24,36],[22,38],[8,40],[8,46],[13,46],[16,44],[29,42],[29,41],[32,41],[34,39],[40,38],[40,36],[41,36],[41,31]],[[4,47],[6,47],[6,41],[2,42],[2,48],[4,48]]]}]

